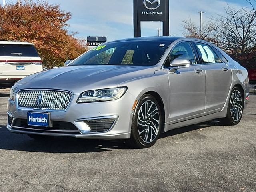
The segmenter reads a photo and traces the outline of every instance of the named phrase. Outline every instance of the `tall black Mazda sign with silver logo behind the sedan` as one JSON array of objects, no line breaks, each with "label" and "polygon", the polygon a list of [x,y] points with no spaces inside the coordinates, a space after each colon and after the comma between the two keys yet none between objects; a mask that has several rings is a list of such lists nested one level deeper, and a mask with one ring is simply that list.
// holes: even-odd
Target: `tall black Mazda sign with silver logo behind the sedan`
[{"label": "tall black Mazda sign with silver logo behind the sedan", "polygon": [[134,0],[134,36],[141,35],[142,21],[163,22],[163,34],[169,36],[169,0]]}]

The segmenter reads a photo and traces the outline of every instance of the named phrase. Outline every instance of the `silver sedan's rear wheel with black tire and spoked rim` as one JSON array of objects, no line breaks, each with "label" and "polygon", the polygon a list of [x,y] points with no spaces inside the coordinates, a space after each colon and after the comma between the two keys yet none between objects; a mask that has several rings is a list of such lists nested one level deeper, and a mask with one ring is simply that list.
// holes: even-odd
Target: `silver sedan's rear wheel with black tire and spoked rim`
[{"label": "silver sedan's rear wheel with black tire and spoked rim", "polygon": [[[232,95],[235,93],[240,93],[240,99],[241,101],[239,101],[239,105],[238,105],[238,101],[235,102],[235,106],[232,106],[232,102],[233,102],[233,98]],[[242,105],[242,110],[240,109],[240,105]],[[238,107],[237,107],[238,106]],[[232,115],[232,111],[233,109],[237,109],[237,112],[239,113],[239,111],[241,110],[243,112],[244,110],[244,96],[242,94],[242,90],[235,86],[230,94],[229,100],[228,100],[228,110],[227,110],[227,116],[225,118],[220,119],[220,122],[224,125],[237,125],[240,120],[242,119],[242,113],[238,114],[238,116],[234,116],[234,113]],[[234,116],[234,117],[233,117]]]}]

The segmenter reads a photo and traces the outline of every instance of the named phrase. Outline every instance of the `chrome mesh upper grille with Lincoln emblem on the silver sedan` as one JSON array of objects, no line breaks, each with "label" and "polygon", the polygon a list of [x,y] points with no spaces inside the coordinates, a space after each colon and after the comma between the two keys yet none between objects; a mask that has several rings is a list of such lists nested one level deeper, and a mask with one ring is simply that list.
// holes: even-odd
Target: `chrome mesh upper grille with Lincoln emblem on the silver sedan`
[{"label": "chrome mesh upper grille with Lincoln emblem on the silver sedan", "polygon": [[66,110],[71,93],[58,90],[23,90],[18,92],[18,105],[26,108]]}]

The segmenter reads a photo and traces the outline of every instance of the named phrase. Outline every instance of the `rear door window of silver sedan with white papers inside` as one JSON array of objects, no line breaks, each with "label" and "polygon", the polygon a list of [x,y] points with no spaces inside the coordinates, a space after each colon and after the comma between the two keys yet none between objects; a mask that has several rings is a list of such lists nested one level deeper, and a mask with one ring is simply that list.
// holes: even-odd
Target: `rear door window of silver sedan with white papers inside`
[{"label": "rear door window of silver sedan with white papers inside", "polygon": [[219,57],[210,48],[210,46],[202,43],[195,42],[197,51],[202,59],[202,63],[220,63]]}]

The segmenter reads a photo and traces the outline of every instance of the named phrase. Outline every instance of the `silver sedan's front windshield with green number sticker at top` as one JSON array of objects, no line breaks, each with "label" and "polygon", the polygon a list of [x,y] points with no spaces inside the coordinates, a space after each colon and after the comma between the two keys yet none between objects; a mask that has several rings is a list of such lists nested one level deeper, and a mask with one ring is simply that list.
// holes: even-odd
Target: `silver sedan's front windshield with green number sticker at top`
[{"label": "silver sedan's front windshield with green number sticker at top", "polygon": [[162,40],[110,42],[86,52],[70,65],[156,65],[171,43]]}]

